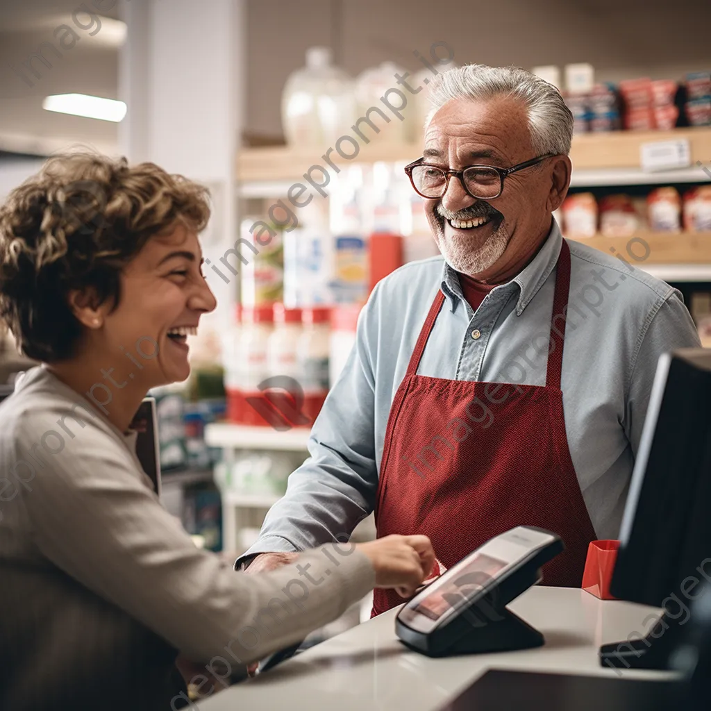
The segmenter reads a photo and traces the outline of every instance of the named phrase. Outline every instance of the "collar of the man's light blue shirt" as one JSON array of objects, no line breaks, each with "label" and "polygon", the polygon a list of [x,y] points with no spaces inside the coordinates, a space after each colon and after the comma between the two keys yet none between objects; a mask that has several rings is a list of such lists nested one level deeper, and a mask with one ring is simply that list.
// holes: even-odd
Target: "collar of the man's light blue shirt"
[{"label": "collar of the man's light blue shirt", "polygon": [[[533,300],[533,297],[538,294],[538,290],[543,286],[545,280],[550,276],[550,273],[555,269],[560,255],[560,247],[562,246],[563,237],[560,234],[560,228],[553,220],[552,227],[548,236],[543,242],[542,247],[538,250],[538,254],[533,257],[533,261],[528,264],[519,274],[517,274],[510,282],[506,284],[498,284],[491,294],[497,292],[510,292],[518,286],[519,294],[516,302],[516,316],[523,314],[523,310]],[[447,262],[444,263],[444,274],[442,275],[442,293],[449,298],[451,302],[451,311],[454,313],[460,301],[464,301],[464,294],[461,292],[459,278],[454,269]]]}]

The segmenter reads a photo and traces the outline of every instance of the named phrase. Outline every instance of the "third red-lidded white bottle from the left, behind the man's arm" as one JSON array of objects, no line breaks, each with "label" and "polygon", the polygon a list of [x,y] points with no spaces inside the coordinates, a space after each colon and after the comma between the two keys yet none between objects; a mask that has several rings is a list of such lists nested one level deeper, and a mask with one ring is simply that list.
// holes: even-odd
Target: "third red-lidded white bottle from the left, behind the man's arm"
[{"label": "third red-lidded white bottle from the left, behind the man's arm", "polygon": [[328,355],[331,337],[331,309],[304,309],[303,329],[296,346],[301,385],[304,387],[304,415],[316,419],[328,395]]}]

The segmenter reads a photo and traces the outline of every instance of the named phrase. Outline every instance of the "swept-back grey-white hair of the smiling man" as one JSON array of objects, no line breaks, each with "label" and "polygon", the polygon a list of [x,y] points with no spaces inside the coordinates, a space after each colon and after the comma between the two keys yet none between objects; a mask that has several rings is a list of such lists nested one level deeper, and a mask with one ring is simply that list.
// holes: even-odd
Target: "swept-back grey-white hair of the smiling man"
[{"label": "swept-back grey-white hair of the smiling man", "polygon": [[570,153],[573,117],[555,86],[520,67],[488,67],[470,64],[434,77],[429,90],[432,104],[425,127],[448,101],[486,101],[497,96],[514,97],[528,110],[531,144],[538,156]]}]

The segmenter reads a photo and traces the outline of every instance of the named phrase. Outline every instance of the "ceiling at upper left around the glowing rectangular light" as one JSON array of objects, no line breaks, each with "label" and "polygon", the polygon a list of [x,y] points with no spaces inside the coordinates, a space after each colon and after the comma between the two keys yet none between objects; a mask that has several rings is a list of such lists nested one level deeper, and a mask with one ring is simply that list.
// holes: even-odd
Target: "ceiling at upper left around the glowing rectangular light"
[{"label": "ceiling at upper left around the glowing rectangular light", "polygon": [[[123,0],[119,0],[121,2]],[[45,111],[50,94],[117,97],[122,25],[115,0],[0,0],[0,151],[46,155],[70,144],[115,152],[117,124]],[[35,55],[41,51],[41,57]]]}]

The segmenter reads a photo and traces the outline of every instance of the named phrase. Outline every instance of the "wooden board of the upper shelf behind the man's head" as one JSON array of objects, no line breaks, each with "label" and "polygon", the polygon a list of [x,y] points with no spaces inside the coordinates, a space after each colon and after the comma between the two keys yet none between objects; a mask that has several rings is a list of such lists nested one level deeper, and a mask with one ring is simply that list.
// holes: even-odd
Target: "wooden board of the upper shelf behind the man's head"
[{"label": "wooden board of the upper shelf behind the man's head", "polygon": [[[711,128],[674,129],[673,131],[614,131],[599,134],[582,134],[573,139],[570,158],[574,169],[578,171],[630,171],[640,170],[640,146],[649,141],[669,141],[673,139],[688,139],[691,148],[691,169],[699,171],[698,181],[708,178],[697,166],[711,162]],[[242,149],[237,155],[237,179],[244,182],[262,181],[299,181],[311,166],[326,166],[321,156],[329,146],[292,148],[289,146],[272,146],[268,148]],[[387,161],[390,163],[414,161],[421,154],[422,146],[418,144],[388,144],[378,143],[374,137],[370,144],[360,145],[358,156],[353,161],[341,158],[331,151],[331,159],[338,167],[347,166],[353,162],[374,163]],[[333,173],[333,169],[329,169]],[[665,171],[673,181],[674,173],[683,175],[683,180],[690,178],[689,169],[682,171]],[[658,176],[659,173],[650,173]],[[693,175],[693,174],[692,174]],[[314,173],[321,178],[319,173]],[[639,178],[644,175],[640,173]],[[611,179],[614,175],[611,176]],[[594,176],[591,176],[594,179]],[[657,180],[653,180],[657,182]],[[582,184],[582,183],[578,183]],[[590,183],[599,184],[599,183]],[[614,183],[611,183],[614,184]],[[288,186],[287,186],[288,187]]]}]

